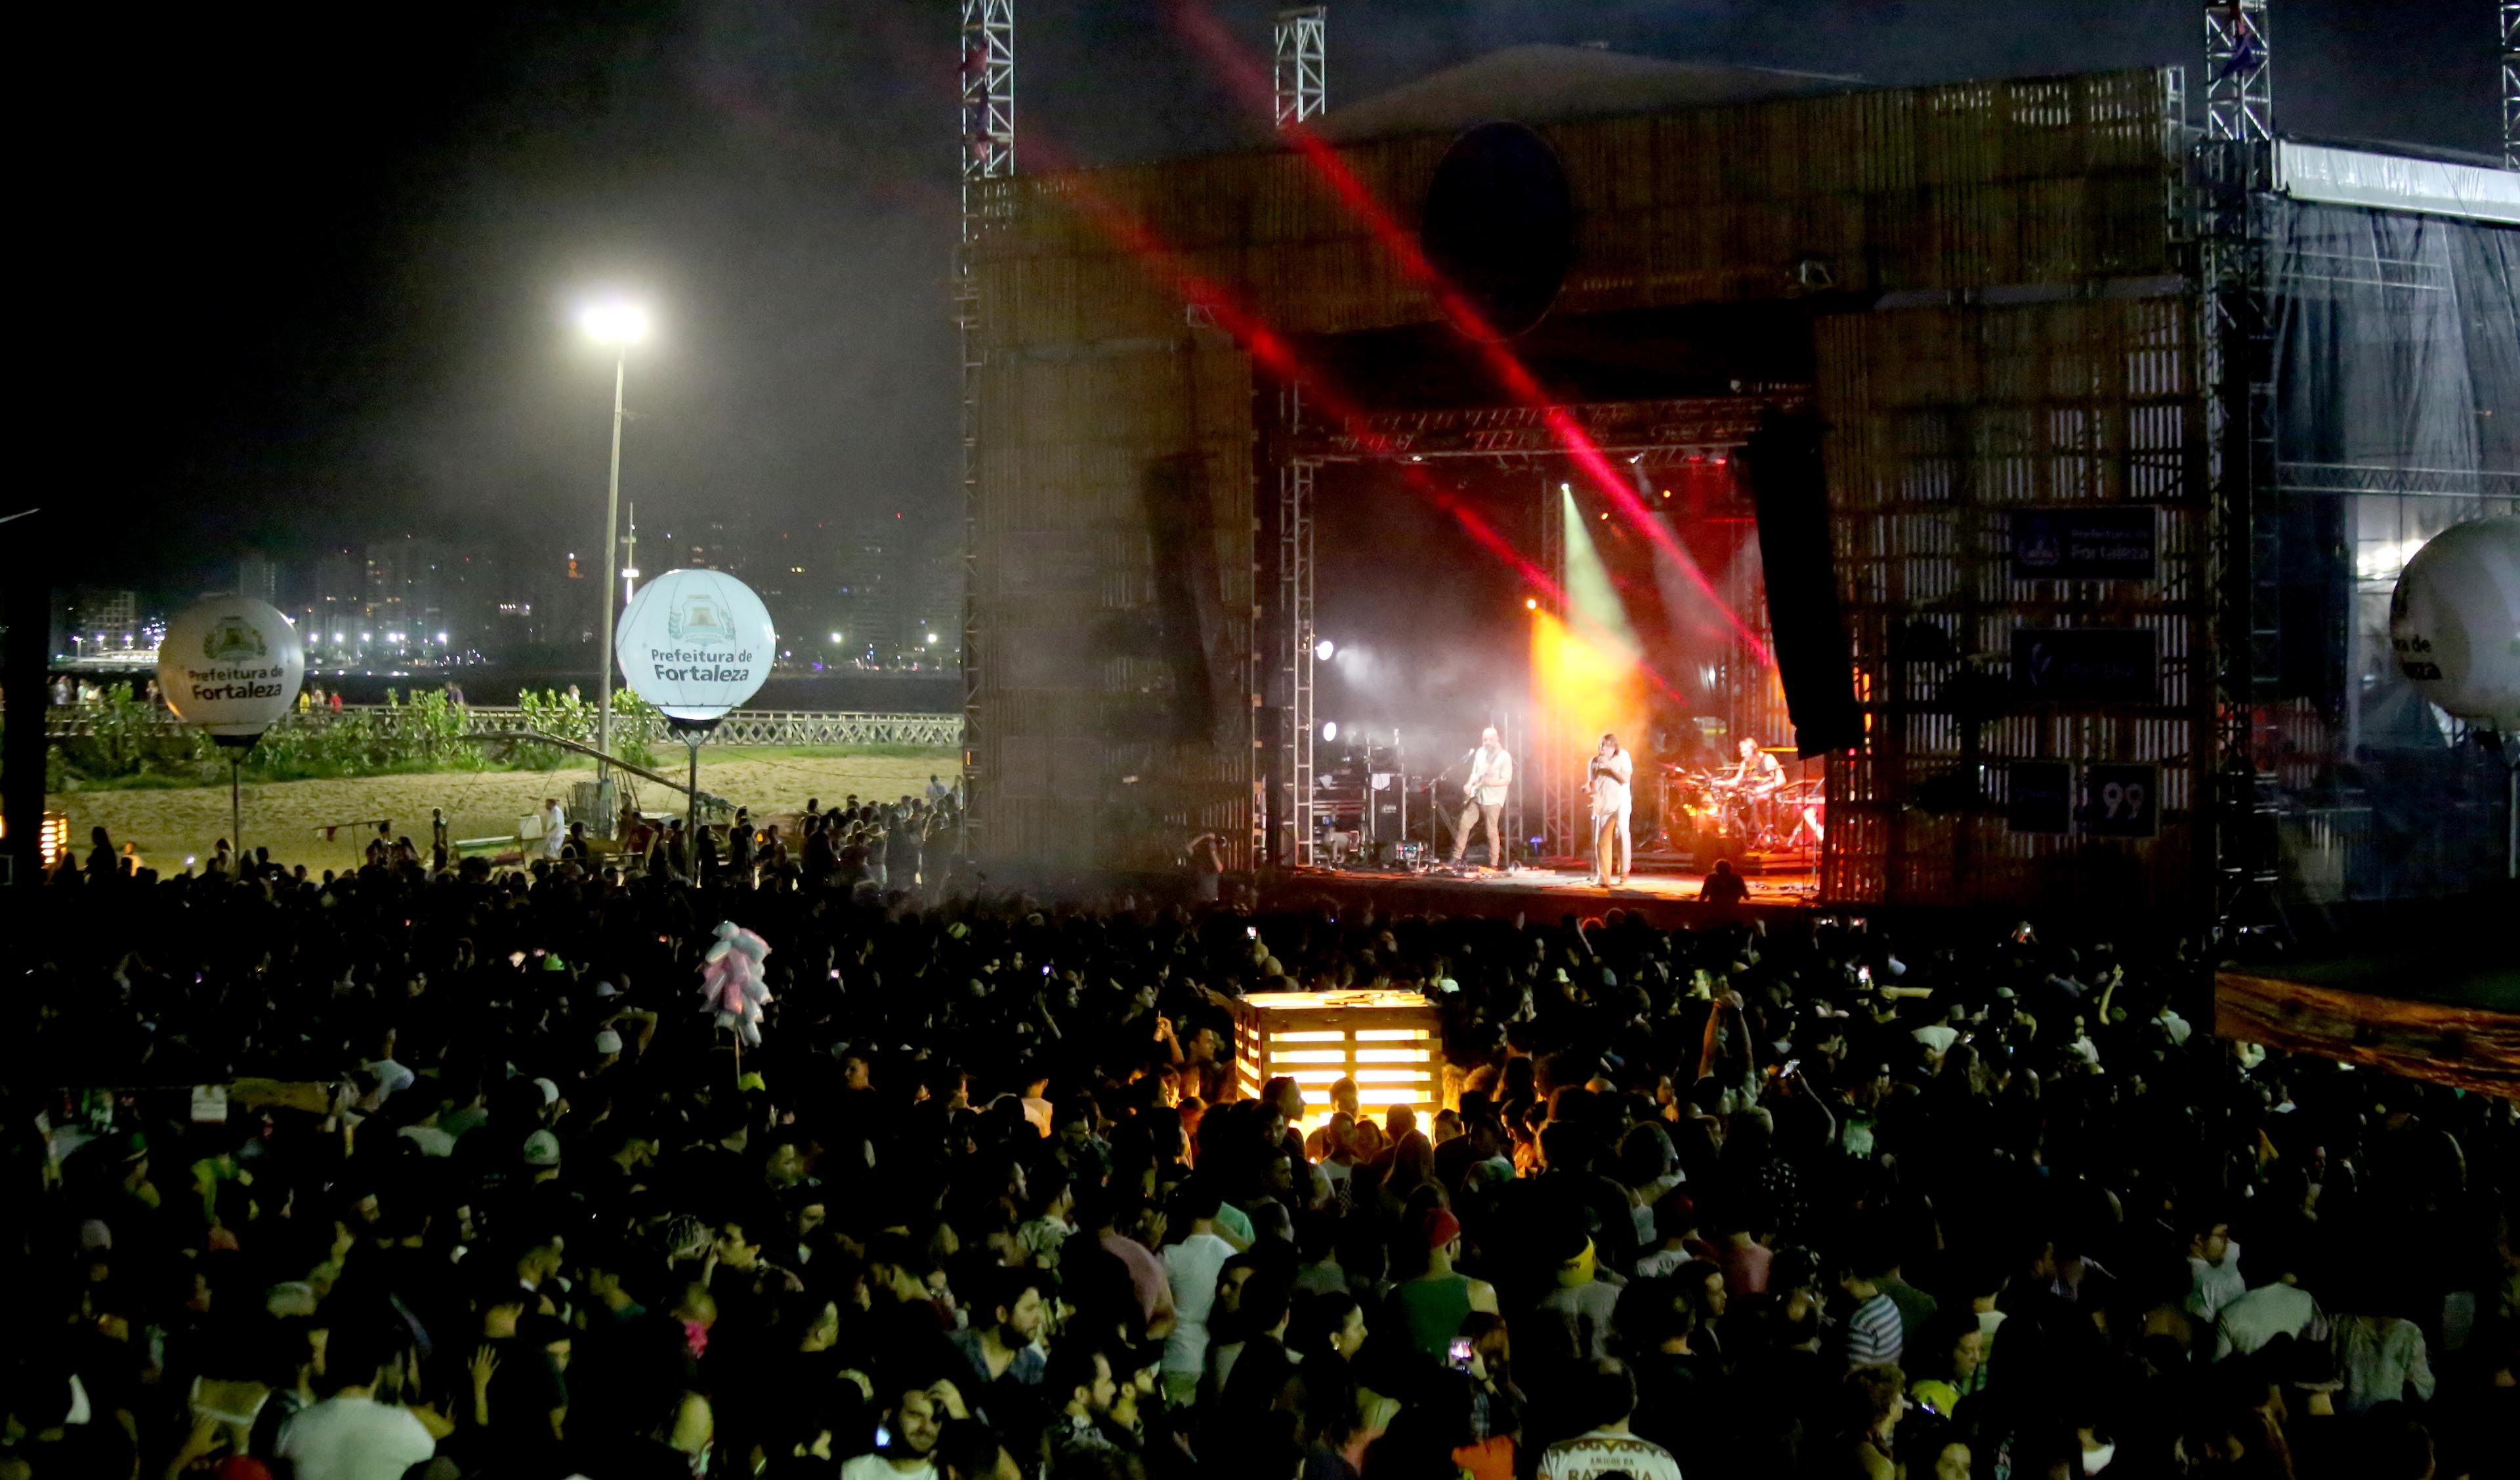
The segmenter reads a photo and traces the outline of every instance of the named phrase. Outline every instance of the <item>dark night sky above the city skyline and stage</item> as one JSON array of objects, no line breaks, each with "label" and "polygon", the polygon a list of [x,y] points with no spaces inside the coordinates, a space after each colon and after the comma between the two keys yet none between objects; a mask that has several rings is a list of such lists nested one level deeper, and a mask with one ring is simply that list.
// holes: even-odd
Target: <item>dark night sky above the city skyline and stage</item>
[{"label": "dark night sky above the city skyline and stage", "polygon": [[[1018,0],[1028,166],[1265,138],[1174,5]],[[1210,10],[1265,60],[1273,0]],[[2497,149],[2492,0],[2273,10],[2288,131]],[[181,594],[247,544],[406,531],[600,544],[610,357],[570,320],[600,287],[658,315],[630,362],[643,531],[945,529],[955,15],[96,13],[28,53],[63,73],[25,146],[63,279],[23,292],[66,362],[38,362],[63,425],[20,435],[68,440],[38,496],[113,511],[55,579]],[[1331,98],[1535,40],[1877,83],[2187,63],[2195,98],[2197,33],[2195,0],[1336,0]]]}]

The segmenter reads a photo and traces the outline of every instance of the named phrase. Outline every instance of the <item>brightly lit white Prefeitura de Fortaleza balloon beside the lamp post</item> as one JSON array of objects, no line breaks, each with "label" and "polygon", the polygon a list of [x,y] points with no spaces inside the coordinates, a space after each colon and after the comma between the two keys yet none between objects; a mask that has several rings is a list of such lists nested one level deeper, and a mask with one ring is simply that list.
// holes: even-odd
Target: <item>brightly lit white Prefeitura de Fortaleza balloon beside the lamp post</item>
[{"label": "brightly lit white Prefeitura de Fortaleza balloon beside the lamp post", "polygon": [[673,720],[716,720],[761,692],[779,654],[771,609],[726,571],[665,571],[622,612],[612,652],[638,697]]}]

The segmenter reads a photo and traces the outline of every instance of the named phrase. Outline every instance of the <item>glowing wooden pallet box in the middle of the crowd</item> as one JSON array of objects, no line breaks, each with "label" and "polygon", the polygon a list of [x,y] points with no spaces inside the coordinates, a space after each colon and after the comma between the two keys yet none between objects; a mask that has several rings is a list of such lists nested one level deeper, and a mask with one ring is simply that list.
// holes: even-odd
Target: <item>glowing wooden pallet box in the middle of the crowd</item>
[{"label": "glowing wooden pallet box in the middle of the crowd", "polygon": [[1444,1014],[1416,992],[1252,992],[1227,1007],[1242,1097],[1295,1080],[1305,1135],[1331,1123],[1338,1080],[1356,1080],[1358,1110],[1376,1120],[1409,1105],[1426,1125],[1444,1105]]}]

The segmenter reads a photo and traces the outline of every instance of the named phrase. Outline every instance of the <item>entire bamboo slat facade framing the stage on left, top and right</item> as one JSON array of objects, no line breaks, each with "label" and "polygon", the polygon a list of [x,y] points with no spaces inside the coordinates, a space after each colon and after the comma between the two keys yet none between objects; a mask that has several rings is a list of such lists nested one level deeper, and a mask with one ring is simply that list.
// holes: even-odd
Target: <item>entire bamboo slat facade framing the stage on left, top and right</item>
[{"label": "entire bamboo slat facade framing the stage on left, top and right", "polygon": [[[2001,818],[1991,833],[1983,805],[1961,818],[1905,805],[1918,780],[1971,758],[2165,760],[2180,773],[2177,828],[2124,861],[2182,866],[2197,750],[2187,697],[2107,722],[2006,712],[1971,737],[1935,697],[1948,675],[1893,664],[1887,652],[1887,634],[1910,619],[1940,624],[1961,652],[2001,652],[2011,622],[2051,609],[2155,624],[2175,670],[2195,652],[2195,591],[2180,581],[2202,536],[2187,516],[2167,536],[2180,574],[2142,609],[2099,614],[2082,591],[2011,591],[1983,559],[2001,544],[2006,503],[2200,496],[2187,307],[2092,297],[2099,284],[2182,272],[2170,229],[2177,123],[2170,73],[2134,70],[1540,128],[1575,201],[1575,267],[1557,315],[1819,287],[1933,300],[1819,320],[1840,574],[1875,735],[1835,775],[1852,800],[1830,826],[1827,889],[1840,899],[2013,896],[2044,878],[2051,858],[2003,838]],[[1449,143],[1373,141],[1341,161],[1414,237]],[[1255,320],[1275,335],[1421,325],[1439,312],[1376,224],[1290,151],[980,189],[1000,221],[975,249],[983,848],[1116,863],[1202,828],[1242,848],[1255,662],[1242,659],[1240,727],[1220,707],[1205,750],[1174,743],[1162,765],[1139,770],[1144,735],[1164,730],[1172,675],[1162,662],[1094,659],[1089,642],[1147,609],[1147,468],[1197,453],[1220,571],[1202,622],[1250,652],[1252,367],[1245,345],[1187,325],[1207,322],[1200,305],[1225,307],[1215,322]],[[2003,307],[2024,289],[2059,302]],[[1275,486],[1275,471],[1263,473]],[[1121,785],[1121,775],[1152,780]],[[1983,886],[1978,861],[1993,863]]]}]

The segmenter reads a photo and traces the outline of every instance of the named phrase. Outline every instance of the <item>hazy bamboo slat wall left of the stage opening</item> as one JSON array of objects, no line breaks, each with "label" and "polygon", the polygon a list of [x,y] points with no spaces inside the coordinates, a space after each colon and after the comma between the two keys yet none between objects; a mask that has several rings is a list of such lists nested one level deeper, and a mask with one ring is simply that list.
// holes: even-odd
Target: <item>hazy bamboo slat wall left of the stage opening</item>
[{"label": "hazy bamboo slat wall left of the stage opening", "polygon": [[[1217,335],[1101,355],[1005,355],[980,373],[973,604],[983,632],[975,800],[985,851],[1046,868],[1159,868],[1194,833],[1247,848],[1252,805],[1250,365]],[[1194,629],[1164,629],[1152,466],[1205,508],[1212,579]],[[1184,561],[1194,579],[1200,561]],[[1189,712],[1192,644],[1215,725]]]}]

